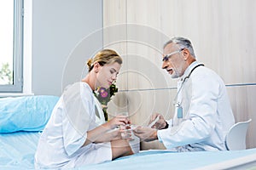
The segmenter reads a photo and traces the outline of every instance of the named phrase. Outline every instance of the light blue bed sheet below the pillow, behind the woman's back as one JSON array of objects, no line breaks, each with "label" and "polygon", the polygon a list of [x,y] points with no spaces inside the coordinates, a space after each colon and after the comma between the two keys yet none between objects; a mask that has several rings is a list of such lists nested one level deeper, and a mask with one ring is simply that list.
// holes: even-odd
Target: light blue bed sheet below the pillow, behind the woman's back
[{"label": "light blue bed sheet below the pillow, behind the woman's back", "polygon": [[38,132],[0,133],[0,169],[33,169]]}]

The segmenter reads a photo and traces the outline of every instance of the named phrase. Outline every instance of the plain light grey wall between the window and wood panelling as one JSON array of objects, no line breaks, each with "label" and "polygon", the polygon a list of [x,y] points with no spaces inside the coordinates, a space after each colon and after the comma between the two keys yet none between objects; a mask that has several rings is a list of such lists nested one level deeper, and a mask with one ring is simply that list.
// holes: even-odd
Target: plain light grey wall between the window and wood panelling
[{"label": "plain light grey wall between the window and wood panelling", "polygon": [[[101,29],[102,0],[33,0],[32,93],[61,95],[67,84],[79,81],[86,60],[102,48]],[[75,59],[73,49],[95,31]]]}]

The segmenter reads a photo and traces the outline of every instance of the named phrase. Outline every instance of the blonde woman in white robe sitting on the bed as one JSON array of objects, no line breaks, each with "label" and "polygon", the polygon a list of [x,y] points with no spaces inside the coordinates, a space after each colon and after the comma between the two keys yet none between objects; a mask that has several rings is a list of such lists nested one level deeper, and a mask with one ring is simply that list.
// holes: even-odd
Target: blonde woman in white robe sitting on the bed
[{"label": "blonde woman in white robe sitting on the bed", "polygon": [[79,167],[133,153],[128,143],[130,134],[116,128],[130,124],[130,120],[116,116],[105,122],[93,94],[98,87],[109,88],[121,64],[119,54],[110,49],[88,60],[87,76],[68,87],[55,105],[38,142],[36,168]]}]

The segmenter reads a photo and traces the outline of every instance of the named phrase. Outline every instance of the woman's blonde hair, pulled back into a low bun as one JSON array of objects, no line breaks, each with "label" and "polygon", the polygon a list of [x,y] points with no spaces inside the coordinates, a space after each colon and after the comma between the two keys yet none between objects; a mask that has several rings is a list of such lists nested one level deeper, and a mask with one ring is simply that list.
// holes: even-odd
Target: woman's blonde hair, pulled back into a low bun
[{"label": "woman's blonde hair, pulled back into a low bun", "polygon": [[87,66],[89,72],[93,69],[96,62],[102,66],[106,64],[113,64],[114,62],[121,65],[123,63],[123,59],[112,49],[102,49],[102,51],[98,52],[94,58],[88,59]]}]

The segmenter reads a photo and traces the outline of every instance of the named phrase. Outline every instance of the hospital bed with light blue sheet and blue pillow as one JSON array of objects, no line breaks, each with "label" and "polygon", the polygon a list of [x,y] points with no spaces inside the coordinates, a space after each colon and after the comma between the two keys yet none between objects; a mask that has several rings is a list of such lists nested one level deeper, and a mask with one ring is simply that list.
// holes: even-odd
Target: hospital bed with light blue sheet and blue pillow
[{"label": "hospital bed with light blue sheet and blue pillow", "polygon": [[[38,144],[38,138],[44,128],[45,120],[38,121],[45,111],[51,111],[57,97],[39,96],[31,97],[32,100],[26,100],[27,105],[32,102],[33,105],[27,108],[20,108],[17,115],[4,115],[7,108],[3,109],[3,99],[0,99],[0,169],[33,169],[34,153]],[[47,100],[47,102],[45,101]],[[50,102],[49,102],[50,101]],[[2,102],[2,103],[1,103]],[[22,103],[21,101],[16,101]],[[14,102],[12,102],[14,104]],[[15,104],[17,105],[17,104]],[[12,109],[15,110],[15,105]],[[8,106],[8,105],[5,105]],[[20,109],[19,108],[19,109]],[[46,108],[46,109],[45,109]],[[26,110],[26,111],[25,111]],[[32,114],[25,116],[23,112]],[[14,117],[14,118],[10,118]],[[45,116],[47,119],[47,116]],[[5,119],[5,120],[4,120]],[[19,120],[16,120],[19,119]],[[3,121],[4,120],[4,121]],[[36,123],[32,123],[36,122]],[[19,125],[19,124],[22,125]],[[169,150],[141,150],[132,156],[125,156],[114,161],[106,161],[101,164],[87,165],[77,169],[256,169],[256,148],[247,150],[231,151],[199,151],[177,153]]]}]

